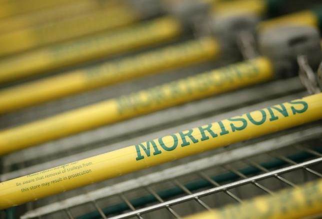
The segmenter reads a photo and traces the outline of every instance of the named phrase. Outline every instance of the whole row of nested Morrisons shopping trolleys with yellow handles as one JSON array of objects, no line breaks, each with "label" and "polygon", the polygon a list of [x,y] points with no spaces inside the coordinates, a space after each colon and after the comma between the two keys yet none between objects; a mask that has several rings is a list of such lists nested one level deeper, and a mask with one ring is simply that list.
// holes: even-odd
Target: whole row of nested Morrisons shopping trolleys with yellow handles
[{"label": "whole row of nested Morrisons shopping trolleys with yellow handles", "polygon": [[[321,9],[148,2],[101,7],[131,5],[141,15],[130,22],[152,21],[2,59],[28,67],[15,66],[16,78],[3,71],[0,217],[318,218]],[[89,43],[98,38],[115,49]],[[41,62],[54,46],[68,51],[62,61]],[[67,57],[73,68],[58,70]]]}]

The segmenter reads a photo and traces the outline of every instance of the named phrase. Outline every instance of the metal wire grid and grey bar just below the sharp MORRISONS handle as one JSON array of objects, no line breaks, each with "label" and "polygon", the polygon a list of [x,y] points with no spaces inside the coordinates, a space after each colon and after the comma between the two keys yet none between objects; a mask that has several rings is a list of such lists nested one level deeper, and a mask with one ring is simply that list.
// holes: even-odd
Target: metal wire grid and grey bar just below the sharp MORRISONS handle
[{"label": "metal wire grid and grey bar just below the sharp MORRISONS handle", "polygon": [[[321,177],[321,133],[317,125],[245,147],[226,148],[90,192],[83,190],[77,196],[29,210],[21,218],[106,218],[115,214],[120,214],[115,218],[179,218],[232,200],[241,202],[251,196],[272,194],[279,188]],[[306,140],[294,143],[299,141],[296,136]],[[316,170],[307,167],[313,164]]]}]

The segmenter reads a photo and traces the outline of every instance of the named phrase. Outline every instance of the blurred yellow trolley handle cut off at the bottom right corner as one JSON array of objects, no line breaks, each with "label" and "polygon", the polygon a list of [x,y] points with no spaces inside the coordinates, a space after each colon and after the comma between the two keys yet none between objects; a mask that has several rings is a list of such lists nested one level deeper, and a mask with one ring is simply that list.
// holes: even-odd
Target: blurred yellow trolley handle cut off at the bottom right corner
[{"label": "blurred yellow trolley handle cut off at the bottom right corner", "polygon": [[322,212],[322,179],[185,219],[302,218]]}]

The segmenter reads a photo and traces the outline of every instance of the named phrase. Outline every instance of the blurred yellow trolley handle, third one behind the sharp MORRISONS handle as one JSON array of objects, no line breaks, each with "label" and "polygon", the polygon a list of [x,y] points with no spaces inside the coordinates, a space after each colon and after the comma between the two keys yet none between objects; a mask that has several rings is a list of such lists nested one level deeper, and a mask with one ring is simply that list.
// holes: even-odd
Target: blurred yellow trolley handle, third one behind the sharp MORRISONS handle
[{"label": "blurred yellow trolley handle, third one behind the sharp MORRISONS handle", "polygon": [[181,33],[176,19],[164,16],[115,30],[0,59],[0,82],[70,66],[137,47],[173,39]]}]

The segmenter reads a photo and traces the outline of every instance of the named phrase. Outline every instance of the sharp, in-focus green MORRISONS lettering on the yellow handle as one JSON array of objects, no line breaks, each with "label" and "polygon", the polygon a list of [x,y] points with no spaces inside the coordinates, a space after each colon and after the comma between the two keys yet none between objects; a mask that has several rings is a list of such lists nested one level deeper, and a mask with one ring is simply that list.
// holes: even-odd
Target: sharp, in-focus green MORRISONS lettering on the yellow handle
[{"label": "sharp, in-focus green MORRISONS lettering on the yellow handle", "polygon": [[153,155],[158,155],[162,153],[162,150],[172,151],[176,149],[177,146],[193,146],[193,144],[198,143],[199,141],[209,140],[210,138],[216,138],[230,132],[244,130],[249,124],[260,126],[265,122],[274,122],[282,117],[288,117],[291,113],[294,115],[303,113],[307,109],[308,104],[305,101],[293,100],[288,102],[288,107],[282,103],[260,109],[258,110],[260,112],[260,116],[256,118],[253,118],[251,115],[252,113],[246,113],[244,115],[226,119],[228,122],[218,121],[199,126],[194,129],[181,131],[177,134],[160,137],[156,140],[149,140],[135,144],[134,146],[137,154],[136,160],[141,160],[145,157],[151,156],[151,149],[153,150]]}]

